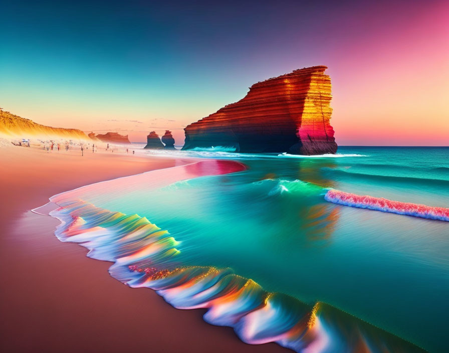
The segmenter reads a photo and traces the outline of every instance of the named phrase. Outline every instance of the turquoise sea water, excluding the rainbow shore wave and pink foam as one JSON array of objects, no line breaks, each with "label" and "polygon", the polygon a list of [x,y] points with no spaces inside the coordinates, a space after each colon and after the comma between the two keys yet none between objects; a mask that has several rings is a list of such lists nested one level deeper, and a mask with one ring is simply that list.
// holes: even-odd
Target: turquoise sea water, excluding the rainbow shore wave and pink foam
[{"label": "turquoise sea water, excluding the rainbow shore wave and pink foam", "polygon": [[449,148],[338,153],[347,156],[191,152],[239,160],[247,170],[157,190],[114,190],[89,202],[168,230],[179,243],[179,265],[230,267],[267,291],[331,304],[445,351],[449,223],[334,205],[323,195],[334,188],[449,207]]}]

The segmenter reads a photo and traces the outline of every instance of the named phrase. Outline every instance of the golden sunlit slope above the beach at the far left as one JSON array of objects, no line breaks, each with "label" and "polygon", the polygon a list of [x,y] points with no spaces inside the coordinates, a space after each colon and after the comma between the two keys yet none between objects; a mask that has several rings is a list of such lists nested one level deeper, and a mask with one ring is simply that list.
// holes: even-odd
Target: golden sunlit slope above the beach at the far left
[{"label": "golden sunlit slope above the beach at the far left", "polygon": [[81,130],[37,124],[3,110],[0,110],[0,134],[6,138],[88,139]]}]

